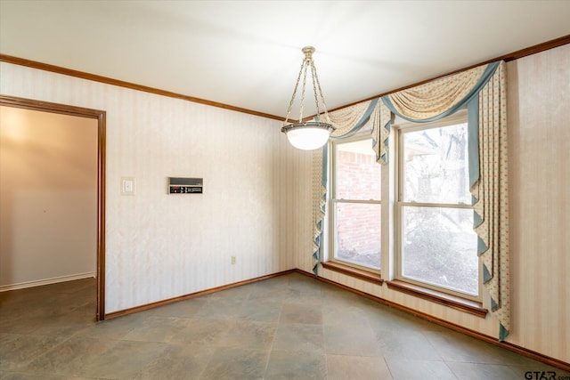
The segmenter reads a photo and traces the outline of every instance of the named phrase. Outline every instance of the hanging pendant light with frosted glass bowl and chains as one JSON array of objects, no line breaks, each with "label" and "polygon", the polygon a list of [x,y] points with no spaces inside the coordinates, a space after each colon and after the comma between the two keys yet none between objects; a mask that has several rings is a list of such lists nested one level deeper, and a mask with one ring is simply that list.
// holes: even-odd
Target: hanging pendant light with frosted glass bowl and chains
[{"label": "hanging pendant light with frosted glass bowl and chains", "polygon": [[[297,77],[297,84],[293,90],[293,96],[289,102],[289,109],[287,109],[287,116],[283,122],[283,127],[281,132],[287,134],[287,138],[291,145],[300,150],[316,150],[321,148],[328,140],[330,133],[335,130],[335,127],[330,125],[329,113],[327,112],[327,106],[324,102],[324,97],[322,96],[321,84],[319,83],[319,77],[317,77],[317,70],[314,69],[313,62],[313,46],[305,46],[302,49],[305,53],[305,59],[301,64],[301,70],[299,71],[299,76]],[[303,121],[303,101],[305,101],[305,86],[306,86],[306,74],[307,71],[311,69],[311,78],[313,82],[313,92],[314,92],[314,103],[316,106],[316,121]],[[301,88],[301,104],[299,111],[299,118],[297,123],[287,124],[289,122],[289,115],[291,109],[293,108],[293,102],[295,101],[295,96],[297,95],[297,88],[299,82],[303,77],[303,87]],[[318,94],[317,94],[318,90]],[[321,96],[323,113],[321,114],[321,108],[319,107],[319,95]],[[321,120],[324,121],[321,121]]]}]

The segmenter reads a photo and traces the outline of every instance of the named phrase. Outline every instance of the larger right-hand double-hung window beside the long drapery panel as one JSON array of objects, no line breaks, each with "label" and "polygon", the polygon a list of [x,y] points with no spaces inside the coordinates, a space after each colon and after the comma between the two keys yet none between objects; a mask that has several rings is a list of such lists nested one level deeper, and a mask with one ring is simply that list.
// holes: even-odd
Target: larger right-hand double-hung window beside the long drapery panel
[{"label": "larger right-hand double-hung window beside the long drapery panel", "polygon": [[396,278],[478,299],[465,117],[397,129]]}]

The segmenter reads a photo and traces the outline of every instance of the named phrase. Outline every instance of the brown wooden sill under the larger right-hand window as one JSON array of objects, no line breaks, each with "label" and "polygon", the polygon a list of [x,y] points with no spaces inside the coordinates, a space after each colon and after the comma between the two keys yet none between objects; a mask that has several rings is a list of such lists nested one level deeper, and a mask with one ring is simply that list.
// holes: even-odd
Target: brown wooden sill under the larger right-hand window
[{"label": "brown wooden sill under the larger right-hand window", "polygon": [[469,301],[455,295],[446,295],[445,293],[428,289],[426,287],[419,287],[417,285],[412,285],[407,282],[401,281],[399,279],[387,281],[386,283],[389,289],[393,289],[398,292],[403,292],[408,295],[414,295],[418,298],[428,300],[434,303],[440,303],[443,304],[444,306],[451,307],[452,309],[465,311],[479,318],[485,318],[485,315],[487,315],[487,310],[483,307],[481,303]]}]

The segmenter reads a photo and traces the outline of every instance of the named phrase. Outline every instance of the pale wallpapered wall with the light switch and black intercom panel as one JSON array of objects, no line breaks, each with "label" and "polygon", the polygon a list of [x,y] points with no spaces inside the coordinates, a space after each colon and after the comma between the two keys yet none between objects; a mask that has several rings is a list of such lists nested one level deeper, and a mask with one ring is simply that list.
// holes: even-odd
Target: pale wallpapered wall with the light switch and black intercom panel
[{"label": "pale wallpapered wall with the light switch and black intercom panel", "polygon": [[[107,111],[106,313],[293,269],[311,252],[311,183],[298,176],[311,153],[280,122],[5,62],[0,82],[5,95]],[[122,176],[134,196],[120,195]],[[204,193],[167,195],[168,176],[202,177]]]}]

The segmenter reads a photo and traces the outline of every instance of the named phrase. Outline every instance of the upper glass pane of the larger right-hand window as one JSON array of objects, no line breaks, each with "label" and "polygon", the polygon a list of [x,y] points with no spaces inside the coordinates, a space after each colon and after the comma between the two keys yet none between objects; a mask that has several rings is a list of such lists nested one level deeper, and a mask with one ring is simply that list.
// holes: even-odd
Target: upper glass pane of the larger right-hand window
[{"label": "upper glass pane of the larger right-hand window", "polygon": [[467,124],[403,133],[403,201],[471,204]]}]

